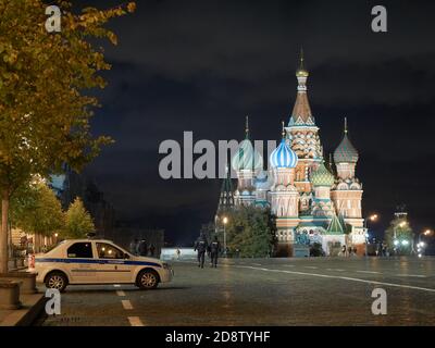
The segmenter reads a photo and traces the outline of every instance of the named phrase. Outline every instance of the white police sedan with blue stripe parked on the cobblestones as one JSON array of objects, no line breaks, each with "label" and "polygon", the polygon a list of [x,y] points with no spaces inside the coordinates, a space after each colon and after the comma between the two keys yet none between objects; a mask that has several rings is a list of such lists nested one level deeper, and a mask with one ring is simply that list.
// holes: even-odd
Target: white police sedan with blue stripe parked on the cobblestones
[{"label": "white police sedan with blue stripe parked on the cobblestones", "polygon": [[171,282],[166,262],[136,257],[110,240],[63,240],[51,251],[35,257],[36,281],[63,291],[73,284],[134,284],[153,289]]}]

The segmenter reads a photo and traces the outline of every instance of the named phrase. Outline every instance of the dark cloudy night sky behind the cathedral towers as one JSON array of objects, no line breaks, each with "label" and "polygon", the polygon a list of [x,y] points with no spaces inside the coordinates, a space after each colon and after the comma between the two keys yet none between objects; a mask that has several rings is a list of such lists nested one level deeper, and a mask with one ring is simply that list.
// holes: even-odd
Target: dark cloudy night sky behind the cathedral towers
[{"label": "dark cloudy night sky behind the cathedral towers", "polygon": [[[115,1],[74,1],[108,8]],[[371,30],[371,9],[388,11],[388,33]],[[343,136],[359,150],[364,215],[376,232],[406,203],[411,226],[435,227],[435,2],[423,1],[137,1],[114,20],[117,47],[96,135],[112,136],[86,174],[119,220],[165,229],[190,244],[214,216],[220,181],[159,176],[159,145],[238,139],[245,115],[254,139],[278,139],[289,120],[295,70],[303,47],[309,100],[328,153]]]}]

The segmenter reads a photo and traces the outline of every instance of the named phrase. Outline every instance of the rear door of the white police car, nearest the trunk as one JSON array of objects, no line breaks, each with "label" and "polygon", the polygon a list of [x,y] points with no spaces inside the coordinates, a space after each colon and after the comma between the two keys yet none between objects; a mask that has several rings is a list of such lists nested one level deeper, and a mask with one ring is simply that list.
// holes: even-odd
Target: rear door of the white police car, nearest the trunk
[{"label": "rear door of the white police car, nearest the trunk", "polygon": [[76,241],[66,248],[65,269],[72,284],[95,283],[96,260],[91,241]]}]

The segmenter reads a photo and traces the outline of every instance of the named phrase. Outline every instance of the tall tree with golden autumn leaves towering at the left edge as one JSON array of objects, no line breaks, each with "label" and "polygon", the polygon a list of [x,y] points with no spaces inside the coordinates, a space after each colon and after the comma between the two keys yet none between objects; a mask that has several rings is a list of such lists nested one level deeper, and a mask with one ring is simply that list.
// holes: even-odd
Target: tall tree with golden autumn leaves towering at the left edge
[{"label": "tall tree with golden autumn leaves towering at the left edge", "polygon": [[46,30],[47,3],[0,0],[0,272],[7,272],[7,226],[11,196],[32,175],[46,177],[63,163],[75,170],[111,142],[94,137],[89,120],[98,100],[89,89],[103,88],[99,72],[110,69],[95,38],[117,39],[104,25],[133,12],[126,3],[109,10],[62,10],[61,33]]}]

